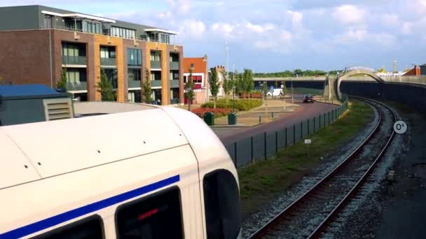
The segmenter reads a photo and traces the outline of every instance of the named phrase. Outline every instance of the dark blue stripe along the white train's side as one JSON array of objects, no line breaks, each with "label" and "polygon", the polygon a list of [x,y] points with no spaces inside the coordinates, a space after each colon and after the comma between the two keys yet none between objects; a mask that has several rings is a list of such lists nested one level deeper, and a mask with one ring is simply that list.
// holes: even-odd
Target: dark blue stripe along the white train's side
[{"label": "dark blue stripe along the white train's side", "polygon": [[101,210],[102,208],[107,208],[116,203],[121,203],[130,198],[135,198],[137,196],[141,196],[142,194],[149,193],[150,191],[154,191],[156,189],[166,187],[170,184],[174,184],[175,182],[179,182],[179,180],[180,180],[179,175],[173,176],[171,178],[166,178],[165,180],[154,182],[153,184],[149,184],[144,187],[139,187],[138,189],[134,189],[132,191],[125,192],[123,194],[118,194],[116,196],[112,196],[111,198],[106,198],[102,201],[97,201],[96,203],[91,203],[81,208],[76,208],[74,210],[61,213],[60,215],[49,217],[39,222],[34,222],[33,224],[22,226],[18,229],[8,231],[6,233],[2,233],[0,234],[0,238],[20,238],[23,236],[28,236],[32,233],[36,233],[37,231],[48,229],[51,226],[56,226],[57,224],[61,224],[62,222],[67,222],[76,217],[81,217],[90,212],[95,212],[97,210]]}]

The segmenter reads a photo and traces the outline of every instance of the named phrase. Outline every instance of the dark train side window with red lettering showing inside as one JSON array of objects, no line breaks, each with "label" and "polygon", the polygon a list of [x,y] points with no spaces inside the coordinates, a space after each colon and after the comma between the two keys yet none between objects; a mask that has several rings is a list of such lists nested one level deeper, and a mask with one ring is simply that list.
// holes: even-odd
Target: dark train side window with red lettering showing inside
[{"label": "dark train side window with red lettering showing inside", "polygon": [[116,221],[118,238],[183,238],[179,188],[121,205]]}]

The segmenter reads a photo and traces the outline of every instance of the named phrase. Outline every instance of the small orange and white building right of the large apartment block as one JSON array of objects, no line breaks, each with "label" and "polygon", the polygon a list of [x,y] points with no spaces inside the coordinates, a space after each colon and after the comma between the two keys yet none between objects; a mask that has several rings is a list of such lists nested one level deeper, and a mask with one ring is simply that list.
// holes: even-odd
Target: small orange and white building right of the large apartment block
[{"label": "small orange and white building right of the large apartment block", "polygon": [[[207,68],[207,55],[204,57],[184,58],[184,83],[188,82],[190,71],[194,83],[194,99],[192,103],[205,103],[209,100],[209,73]],[[185,97],[184,103],[188,103]]]}]

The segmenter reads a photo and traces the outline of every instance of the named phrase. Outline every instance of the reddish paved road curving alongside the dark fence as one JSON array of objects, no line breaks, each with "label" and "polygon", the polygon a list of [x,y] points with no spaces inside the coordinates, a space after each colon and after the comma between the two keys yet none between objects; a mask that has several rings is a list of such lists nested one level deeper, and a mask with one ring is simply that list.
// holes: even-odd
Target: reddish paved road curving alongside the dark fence
[{"label": "reddish paved road curving alongside the dark fence", "polygon": [[280,114],[278,119],[267,124],[261,124],[254,127],[226,127],[226,128],[212,128],[217,134],[224,145],[233,143],[244,138],[256,135],[258,133],[275,131],[282,129],[287,126],[291,126],[297,122],[301,122],[302,119],[309,117],[315,117],[320,113],[325,113],[329,110],[337,108],[338,106],[328,103],[302,103],[301,98],[295,98],[294,103],[298,103],[300,107],[295,107],[294,113]]}]

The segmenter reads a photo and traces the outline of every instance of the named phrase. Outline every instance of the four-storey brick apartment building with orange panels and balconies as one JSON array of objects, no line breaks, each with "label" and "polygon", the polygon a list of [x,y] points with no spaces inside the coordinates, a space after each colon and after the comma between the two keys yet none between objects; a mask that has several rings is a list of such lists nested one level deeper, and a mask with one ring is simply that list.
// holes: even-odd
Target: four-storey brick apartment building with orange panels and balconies
[{"label": "four-storey brick apartment building with orange panels and balconies", "polygon": [[0,77],[13,85],[55,87],[62,71],[81,101],[101,101],[104,72],[119,102],[141,102],[146,69],[153,99],[183,102],[183,54],[177,32],[46,6],[0,8]]}]

